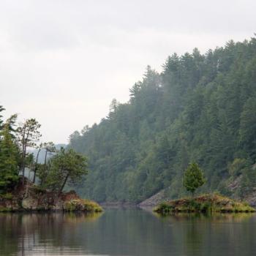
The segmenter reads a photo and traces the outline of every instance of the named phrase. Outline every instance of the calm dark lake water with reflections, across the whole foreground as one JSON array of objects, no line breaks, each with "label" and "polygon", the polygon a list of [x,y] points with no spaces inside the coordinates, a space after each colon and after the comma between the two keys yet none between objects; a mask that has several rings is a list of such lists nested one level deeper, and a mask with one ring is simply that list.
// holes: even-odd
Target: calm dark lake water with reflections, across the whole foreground
[{"label": "calm dark lake water with reflections, across the whole foreground", "polygon": [[256,215],[0,214],[0,255],[256,255]]}]

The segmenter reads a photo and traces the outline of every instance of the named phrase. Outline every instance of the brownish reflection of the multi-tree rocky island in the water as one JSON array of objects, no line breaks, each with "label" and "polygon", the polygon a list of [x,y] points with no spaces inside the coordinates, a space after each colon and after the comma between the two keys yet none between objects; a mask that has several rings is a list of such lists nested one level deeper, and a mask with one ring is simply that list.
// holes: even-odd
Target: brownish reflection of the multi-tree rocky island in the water
[{"label": "brownish reflection of the multi-tree rocky island in the water", "polygon": [[[47,252],[61,250],[65,239],[80,222],[93,222],[101,214],[0,214],[0,255],[29,255],[33,249]],[[74,225],[75,224],[75,225]]]}]

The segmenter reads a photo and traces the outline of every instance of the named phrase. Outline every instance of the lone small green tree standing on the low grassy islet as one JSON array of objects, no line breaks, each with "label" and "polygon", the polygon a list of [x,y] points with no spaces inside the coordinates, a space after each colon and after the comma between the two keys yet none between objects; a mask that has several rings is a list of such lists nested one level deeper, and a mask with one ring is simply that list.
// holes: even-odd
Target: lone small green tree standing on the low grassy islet
[{"label": "lone small green tree standing on the low grassy islet", "polygon": [[187,167],[184,173],[183,185],[187,191],[192,192],[194,196],[195,190],[198,187],[203,186],[206,183],[206,178],[204,178],[203,170],[197,165],[196,162],[192,162]]}]

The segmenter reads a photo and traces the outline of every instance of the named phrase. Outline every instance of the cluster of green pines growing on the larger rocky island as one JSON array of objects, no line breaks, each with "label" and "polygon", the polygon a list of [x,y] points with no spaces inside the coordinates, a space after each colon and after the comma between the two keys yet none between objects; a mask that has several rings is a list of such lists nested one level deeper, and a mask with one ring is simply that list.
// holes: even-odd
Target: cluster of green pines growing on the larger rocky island
[{"label": "cluster of green pines growing on the larger rocky island", "polygon": [[[16,119],[13,115],[4,121],[0,115],[0,195],[12,193],[19,183],[29,184],[28,179],[42,189],[61,193],[66,184],[74,185],[87,174],[86,157],[71,148],[56,150],[52,142],[39,143],[38,121],[30,118],[18,125]],[[39,162],[41,151],[44,162]]]}]

